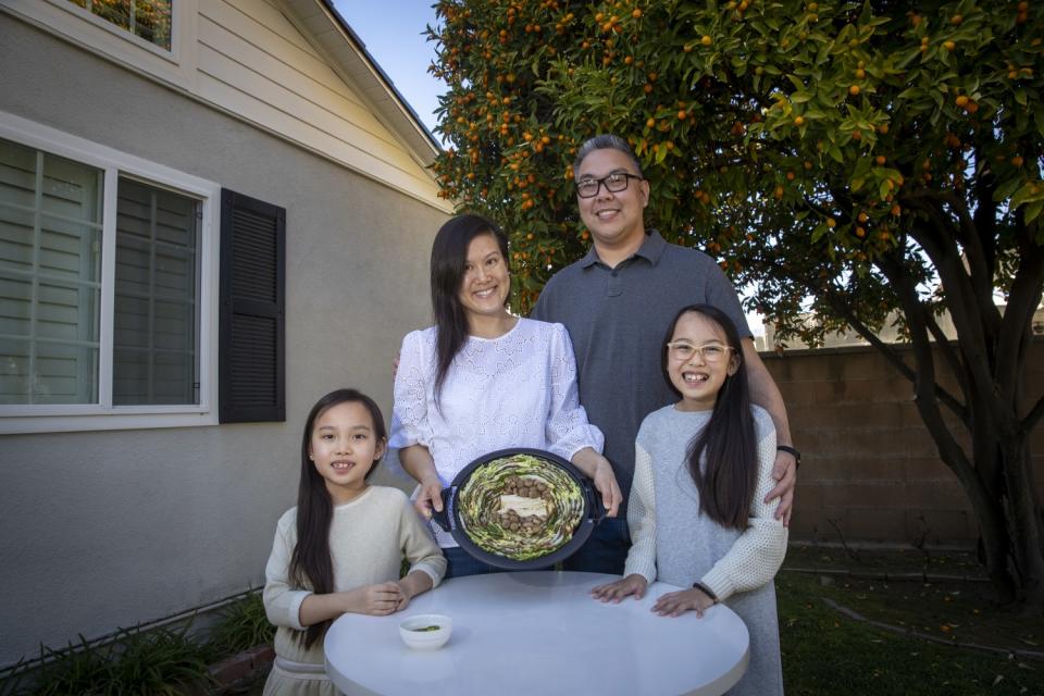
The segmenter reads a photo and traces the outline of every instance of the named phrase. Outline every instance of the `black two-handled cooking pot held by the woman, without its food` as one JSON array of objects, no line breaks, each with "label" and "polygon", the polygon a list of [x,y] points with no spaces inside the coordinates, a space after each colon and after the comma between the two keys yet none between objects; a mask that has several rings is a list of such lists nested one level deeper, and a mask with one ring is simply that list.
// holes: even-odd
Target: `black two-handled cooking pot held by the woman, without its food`
[{"label": "black two-handled cooking pot held by the woman, without its food", "polygon": [[[572,537],[564,545],[560,546],[554,551],[550,551],[549,554],[526,560],[515,560],[513,558],[507,558],[498,554],[493,554],[475,544],[475,542],[473,542],[468,535],[468,531],[464,524],[461,522],[460,510],[457,506],[458,492],[475,471],[487,465],[489,462],[515,455],[530,455],[531,457],[536,457],[537,459],[543,460],[548,467],[558,467],[559,469],[562,469],[576,483],[576,485],[580,486],[582,493],[581,497],[583,498],[584,505],[580,523],[573,531]],[[460,473],[453,477],[453,481],[449,487],[443,488],[443,510],[433,514],[435,522],[437,522],[440,527],[452,534],[453,539],[460,545],[460,548],[464,549],[472,557],[483,561],[484,563],[488,563],[489,566],[495,566],[497,568],[504,568],[506,570],[536,570],[539,568],[554,566],[555,563],[569,558],[581,546],[584,545],[584,542],[586,542],[587,537],[591,536],[595,525],[598,524],[604,517],[605,508],[601,505],[600,496],[598,495],[598,492],[595,490],[594,483],[591,481],[591,478],[584,476],[584,474],[582,474],[576,467],[566,461],[558,455],[544,451],[542,449],[526,448],[499,449],[495,452],[489,452],[488,455],[480,457],[461,469]]]}]

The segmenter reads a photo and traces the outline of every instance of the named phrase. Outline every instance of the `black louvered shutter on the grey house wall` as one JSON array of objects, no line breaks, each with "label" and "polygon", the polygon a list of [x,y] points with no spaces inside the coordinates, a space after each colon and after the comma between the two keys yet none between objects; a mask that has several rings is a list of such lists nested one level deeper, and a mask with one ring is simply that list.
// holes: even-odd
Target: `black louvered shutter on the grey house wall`
[{"label": "black louvered shutter on the grey house wall", "polygon": [[221,191],[222,423],[286,420],[286,210]]}]

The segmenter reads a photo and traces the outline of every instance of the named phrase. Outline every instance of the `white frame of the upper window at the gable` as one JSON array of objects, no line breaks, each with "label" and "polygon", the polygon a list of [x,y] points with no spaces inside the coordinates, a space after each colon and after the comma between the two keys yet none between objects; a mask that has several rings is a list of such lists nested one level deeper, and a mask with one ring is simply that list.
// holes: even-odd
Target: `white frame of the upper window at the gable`
[{"label": "white frame of the upper window at the gable", "polygon": [[0,10],[20,15],[138,73],[184,89],[196,80],[199,0],[171,5],[171,50],[147,41],[69,0],[0,0]]}]

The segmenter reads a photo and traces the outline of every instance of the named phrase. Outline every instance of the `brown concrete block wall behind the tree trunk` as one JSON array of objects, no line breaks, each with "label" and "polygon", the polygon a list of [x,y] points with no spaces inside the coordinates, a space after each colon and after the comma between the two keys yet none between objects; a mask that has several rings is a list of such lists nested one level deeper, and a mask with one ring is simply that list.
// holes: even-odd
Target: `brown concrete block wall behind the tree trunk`
[{"label": "brown concrete block wall behind the tree trunk", "polygon": [[[912,364],[910,349],[898,350]],[[936,358],[944,385],[958,394],[937,351]],[[850,347],[762,359],[783,393],[803,455],[793,540],[974,545],[979,530],[964,488],[939,458],[913,403],[913,385],[883,356]],[[1033,343],[1027,364],[1023,410],[1044,394],[1044,340]],[[1031,447],[1044,499],[1044,425],[1033,432]]]}]

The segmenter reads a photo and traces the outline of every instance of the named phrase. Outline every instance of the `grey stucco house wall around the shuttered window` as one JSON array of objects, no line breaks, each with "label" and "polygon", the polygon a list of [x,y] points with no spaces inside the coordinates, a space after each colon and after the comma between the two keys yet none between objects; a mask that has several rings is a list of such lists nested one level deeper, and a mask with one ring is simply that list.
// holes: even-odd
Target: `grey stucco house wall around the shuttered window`
[{"label": "grey stucco house wall around the shuttered window", "polygon": [[0,112],[286,208],[285,423],[0,437],[0,667],[263,579],[301,426],[430,323],[428,204],[0,13]]}]

